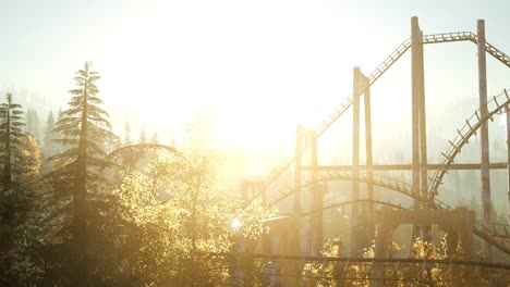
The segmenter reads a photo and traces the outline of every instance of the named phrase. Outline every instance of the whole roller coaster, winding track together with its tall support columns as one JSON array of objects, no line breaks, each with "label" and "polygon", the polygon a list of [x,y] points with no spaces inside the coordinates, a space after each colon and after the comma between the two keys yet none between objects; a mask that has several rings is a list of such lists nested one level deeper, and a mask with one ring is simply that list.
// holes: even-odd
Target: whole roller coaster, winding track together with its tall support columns
[{"label": "whole roller coaster, winding track together with its tall support columns", "polygon": [[[356,195],[353,194],[352,200],[348,202],[340,202],[340,203],[332,203],[332,204],[327,204],[325,205],[324,201],[320,200],[321,205],[313,205],[309,211],[306,212],[301,212],[300,213],[300,203],[294,204],[294,213],[298,212],[299,216],[309,216],[313,215],[314,213],[320,213],[326,210],[326,209],[331,209],[331,208],[338,208],[340,205],[345,205],[345,204],[353,204],[356,205],[356,210],[353,212],[357,212],[357,204],[359,203],[367,203],[372,204],[374,208],[375,205],[385,205],[389,207],[391,209],[408,209],[408,210],[414,210],[416,208],[420,209],[420,207],[428,209],[428,210],[451,210],[452,207],[446,204],[445,202],[440,201],[437,197],[439,195],[440,186],[444,183],[444,177],[447,174],[447,172],[450,170],[452,166],[456,157],[461,152],[462,148],[469,144],[469,140],[475,136],[477,133],[482,134],[482,164],[481,164],[481,170],[482,170],[482,191],[483,191],[483,197],[487,195],[487,187],[484,186],[484,180],[489,180],[484,178],[484,164],[485,164],[485,171],[488,173],[488,149],[486,151],[486,160],[484,162],[484,147],[483,145],[487,142],[487,137],[484,139],[483,134],[488,133],[487,129],[487,122],[493,121],[493,117],[497,113],[506,112],[507,113],[507,121],[509,117],[509,104],[510,104],[510,97],[507,91],[507,89],[503,89],[502,92],[499,95],[494,96],[491,99],[487,99],[486,95],[486,72],[485,72],[485,55],[483,55],[483,59],[481,54],[488,53],[491,57],[496,58],[499,62],[501,62],[503,65],[507,67],[510,67],[510,57],[503,53],[500,49],[496,48],[495,46],[488,43],[485,41],[485,27],[484,23],[478,21],[478,34],[473,34],[471,32],[459,32],[459,33],[445,33],[445,34],[433,34],[433,35],[423,35],[423,33],[420,30],[417,26],[417,18],[413,18],[412,22],[415,21],[417,32],[414,32],[413,27],[413,33],[412,37],[409,39],[405,39],[401,45],[394,49],[389,57],[387,57],[382,63],[380,63],[367,77],[365,78],[364,85],[356,86],[354,84],[354,92],[350,96],[348,96],[341,103],[338,105],[324,121],[320,122],[320,124],[315,128],[315,130],[312,130],[313,133],[309,133],[307,136],[305,136],[303,139],[296,139],[296,149],[295,149],[295,154],[287,159],[286,161],[281,162],[278,166],[276,166],[275,170],[269,173],[267,176],[266,180],[263,183],[263,188],[259,188],[258,195],[259,197],[263,197],[265,199],[265,202],[267,203],[267,207],[275,207],[284,199],[294,196],[294,202],[300,200],[300,190],[304,188],[311,188],[312,192],[317,192],[317,188],[314,189],[314,187],[317,187],[318,185],[324,185],[324,183],[331,182],[331,180],[350,180],[353,183],[364,183],[367,184],[367,186],[377,186],[381,187],[384,189],[391,190],[393,192],[399,192],[401,195],[406,196],[408,198],[411,198],[414,200],[414,202],[417,202],[417,204],[413,205],[412,208],[403,208],[399,204],[394,204],[392,202],[387,202],[387,201],[377,201],[372,198],[369,199],[359,199],[357,198],[357,191]],[[482,28],[481,28],[482,27]],[[420,39],[416,39],[416,34],[418,35]],[[437,169],[435,169],[434,174],[430,178],[427,176],[427,167],[425,167],[424,174],[425,174],[425,180],[423,178],[423,170],[424,166],[420,166],[420,163],[415,163],[414,155],[417,154],[420,145],[423,145],[423,141],[421,144],[417,144],[417,141],[423,140],[420,137],[423,137],[423,135],[418,135],[417,138],[415,139],[415,134],[413,130],[413,183],[405,183],[400,179],[387,177],[387,176],[380,176],[380,175],[375,175],[373,174],[373,166],[372,166],[372,159],[366,164],[366,172],[361,172],[360,166],[359,166],[359,159],[353,158],[353,166],[351,171],[335,171],[335,169],[331,170],[321,170],[319,171],[317,169],[317,159],[316,159],[316,149],[317,149],[317,139],[325,134],[325,132],[328,130],[328,128],[336,122],[338,121],[349,109],[359,109],[359,102],[357,107],[356,105],[356,97],[360,97],[362,95],[365,95],[365,97],[368,97],[368,100],[365,101],[365,105],[368,103],[369,104],[369,88],[372,85],[374,85],[408,50],[413,48],[413,45],[416,45],[417,47],[415,49],[418,49],[418,52],[421,52],[422,59],[415,58],[413,55],[413,70],[417,67],[420,70],[420,65],[422,68],[422,74],[415,73],[413,71],[413,129],[416,128],[423,128],[421,125],[425,126],[425,120],[424,115],[420,115],[420,113],[424,113],[424,107],[423,111],[418,110],[421,108],[415,108],[415,104],[420,105],[421,103],[418,100],[415,103],[415,93],[417,93],[417,98],[423,97],[421,100],[424,99],[424,91],[420,91],[420,87],[417,88],[417,91],[415,91],[415,86],[423,85],[423,45],[429,45],[429,43],[441,43],[441,42],[458,42],[458,41],[469,41],[473,42],[478,47],[478,74],[479,74],[479,86],[481,86],[481,107],[478,110],[476,110],[470,117],[467,117],[462,125],[461,128],[454,130],[456,134],[453,136],[452,140],[448,141],[447,148],[440,153],[441,160],[439,164],[437,164]],[[420,51],[420,49],[422,49]],[[416,50],[414,51],[416,53]],[[417,53],[416,53],[417,54]],[[420,55],[418,55],[420,57]],[[481,60],[482,59],[482,60]],[[420,62],[421,61],[421,62]],[[356,73],[356,71],[354,72]],[[420,76],[422,79],[420,79]],[[417,77],[417,79],[415,79]],[[421,80],[421,82],[420,82]],[[354,74],[354,82],[356,82],[356,74]],[[356,90],[356,88],[359,90]],[[422,86],[423,89],[423,86]],[[422,95],[420,96],[420,92]],[[485,96],[483,96],[485,93]],[[422,103],[424,105],[424,102]],[[354,108],[353,108],[354,105]],[[366,110],[365,107],[365,113],[369,109]],[[357,113],[357,114],[356,114]],[[414,114],[417,113],[415,116]],[[353,134],[359,132],[359,124],[356,124],[356,116],[359,117],[359,110],[354,110],[354,123],[353,123]],[[423,120],[420,118],[420,116],[423,116]],[[368,117],[365,117],[365,121],[367,121]],[[369,121],[369,120],[368,120]],[[423,124],[420,121],[424,121]],[[366,124],[366,123],[365,123]],[[357,126],[356,126],[357,125]],[[367,128],[367,127],[365,127]],[[372,127],[369,127],[372,128]],[[485,128],[485,130],[484,130]],[[508,127],[507,127],[508,129]],[[299,133],[299,132],[298,132]],[[372,133],[369,130],[368,133]],[[420,132],[416,132],[416,135]],[[426,133],[426,132],[425,132]],[[510,135],[510,133],[507,130],[507,137]],[[300,136],[298,135],[298,138]],[[368,137],[368,135],[366,136]],[[372,137],[372,135],[369,135]],[[425,153],[421,153],[420,157],[425,158],[425,164],[426,164],[426,134],[424,135],[424,140],[425,140]],[[359,140],[359,139],[357,139]],[[508,142],[510,142],[510,138],[508,138]],[[367,149],[369,145],[369,149],[372,149],[372,139],[369,139],[369,144],[367,141]],[[485,141],[485,142],[484,142]],[[510,144],[509,144],[510,145]],[[357,146],[357,147],[356,147]],[[302,169],[302,155],[307,149],[312,149],[312,162],[314,162],[314,157],[315,157],[315,163],[312,163],[311,166],[312,169],[308,169],[307,171],[309,173],[307,174],[301,174],[301,169]],[[356,152],[359,157],[359,141],[356,142],[356,139],[353,140],[353,153]],[[421,150],[420,150],[421,152]],[[315,153],[315,154],[314,154]],[[372,153],[372,151],[371,151]],[[510,154],[510,153],[509,153]],[[356,157],[353,154],[353,157]],[[368,155],[368,150],[366,157],[371,157],[372,154]],[[510,157],[510,155],[509,155]],[[510,161],[510,159],[509,159]],[[271,185],[274,185],[278,178],[280,178],[286,171],[290,170],[292,164],[295,163],[294,167],[294,186],[289,187],[287,189],[283,189],[282,191],[279,190],[279,192],[276,192],[276,190],[281,189],[280,187],[276,187],[270,189]],[[315,167],[315,169],[314,169]],[[507,169],[510,169],[507,164]],[[418,173],[422,172],[421,175]],[[420,182],[420,178],[422,177],[422,180],[425,182],[425,186],[422,185],[420,186],[420,183],[415,183],[414,175],[417,175],[417,182]],[[487,176],[488,177],[488,176]],[[510,180],[510,177],[509,177]],[[428,182],[428,183],[427,183]],[[489,184],[488,184],[489,185]],[[426,190],[425,190],[426,187]],[[320,188],[319,188],[320,189]],[[357,188],[356,188],[357,190]],[[354,192],[354,191],[353,191]],[[488,195],[490,195],[490,189],[488,188]],[[510,195],[510,194],[509,194]],[[270,197],[270,199],[267,199],[267,197]],[[318,197],[321,197],[318,196]],[[486,212],[486,207],[484,202],[484,213]],[[485,214],[484,214],[485,215]],[[357,215],[356,215],[357,216]],[[357,219],[356,219],[357,220]],[[314,228],[314,224],[317,224],[316,221],[323,221],[321,215],[317,216],[315,220],[312,220],[311,225],[308,226],[309,233],[315,233],[317,232],[316,228]],[[319,232],[321,233],[321,226],[323,224],[319,223]],[[352,232],[354,233],[354,228],[357,226],[354,226],[354,223],[352,224],[351,228]],[[487,222],[487,217],[484,217],[484,221],[476,221],[474,225],[472,225],[472,232],[479,238],[482,238],[486,245],[490,245],[499,249],[500,251],[510,254],[510,226],[508,224],[501,224],[501,223],[494,223],[494,222]],[[312,241],[311,239],[312,236],[307,239],[308,241]],[[352,237],[351,237],[352,238]],[[321,239],[321,235],[320,235]],[[320,241],[319,239],[319,241]],[[352,244],[352,242],[351,242]],[[377,242],[376,242],[377,245]],[[309,250],[308,250],[309,251]],[[353,257],[353,253],[351,253],[351,257]],[[354,253],[354,261],[357,259],[355,258]],[[487,260],[488,258],[486,258]],[[294,260],[294,264],[296,259]],[[314,260],[320,260],[319,258],[314,258]],[[384,258],[376,258],[376,260],[387,260]],[[489,260],[489,259],[488,259]],[[425,261],[423,261],[425,262]],[[392,265],[393,263],[390,263],[388,261],[385,261],[385,263],[388,263],[389,265]],[[508,265],[506,265],[508,266]],[[505,266],[505,269],[506,269]],[[386,271],[387,272],[387,271]],[[379,278],[381,277],[379,273]],[[303,274],[301,274],[303,275]],[[374,274],[372,274],[374,275]],[[340,276],[342,277],[342,276]],[[345,276],[343,276],[344,278]],[[377,277],[377,276],[375,276]],[[295,283],[295,282],[294,282]],[[371,286],[382,286],[382,282],[371,282]],[[506,275],[503,276],[503,279],[499,283],[493,283],[493,285],[498,285],[498,286],[507,286],[508,280]],[[434,285],[434,284],[433,284]]]}]

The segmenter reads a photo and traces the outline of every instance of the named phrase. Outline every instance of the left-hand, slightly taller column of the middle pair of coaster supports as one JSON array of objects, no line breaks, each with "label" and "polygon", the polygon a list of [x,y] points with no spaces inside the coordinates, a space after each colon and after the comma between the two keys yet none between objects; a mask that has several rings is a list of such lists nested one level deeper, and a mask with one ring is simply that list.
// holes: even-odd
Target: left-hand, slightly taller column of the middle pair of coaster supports
[{"label": "left-hand, slightly taller column of the middle pair of coaster supports", "polygon": [[[360,173],[360,67],[353,71],[353,104],[352,104],[352,172],[354,176]],[[352,182],[352,212],[351,212],[351,257],[359,257],[359,204],[360,183]]]}]

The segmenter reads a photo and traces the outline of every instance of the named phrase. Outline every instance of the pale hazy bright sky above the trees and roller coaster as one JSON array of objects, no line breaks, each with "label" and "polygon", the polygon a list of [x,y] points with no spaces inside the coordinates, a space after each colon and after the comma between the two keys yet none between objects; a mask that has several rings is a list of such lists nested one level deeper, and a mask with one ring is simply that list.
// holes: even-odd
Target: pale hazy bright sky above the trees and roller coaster
[{"label": "pale hazy bright sky above the trees and roller coaster", "polygon": [[[424,34],[476,32],[476,20],[485,18],[487,41],[510,52],[506,0],[0,3],[2,90],[26,88],[48,108],[65,107],[74,71],[89,60],[102,75],[100,95],[116,130],[130,120],[135,136],[146,125],[163,139],[194,110],[207,109],[228,142],[282,141],[292,151],[295,124],[315,127],[350,95],[353,66],[373,71],[410,36],[414,15]],[[448,103],[476,96],[476,47],[426,46],[425,68],[433,127],[445,120],[435,114],[448,117]],[[489,93],[510,87],[510,71],[491,59],[488,78]],[[408,54],[374,86],[375,128],[410,138],[410,122],[396,126],[406,123],[410,90]]]}]

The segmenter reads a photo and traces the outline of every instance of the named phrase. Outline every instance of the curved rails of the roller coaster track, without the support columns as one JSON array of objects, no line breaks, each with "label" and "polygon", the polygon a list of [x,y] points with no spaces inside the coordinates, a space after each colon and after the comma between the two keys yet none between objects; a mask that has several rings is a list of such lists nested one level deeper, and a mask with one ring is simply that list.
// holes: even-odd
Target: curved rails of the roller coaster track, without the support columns
[{"label": "curved rails of the roller coaster track, without the support columns", "polygon": [[[446,33],[446,34],[433,34],[433,35],[424,35],[423,36],[423,43],[439,43],[439,42],[454,42],[454,41],[471,41],[474,43],[477,43],[477,37],[475,34],[471,32],[459,32],[459,33]],[[399,47],[397,47],[396,50],[391,52],[389,57],[382,61],[377,68],[371,73],[368,76],[368,87],[371,87],[377,79],[379,79],[386,71],[388,71],[411,47],[411,40],[406,39],[404,40]],[[496,58],[498,61],[500,61],[502,64],[506,66],[510,67],[510,57],[507,55],[505,52],[501,50],[497,49],[495,46],[486,42],[485,43],[485,51]],[[502,95],[505,95],[505,98],[502,98]],[[499,100],[499,101],[498,101]],[[308,138],[305,140],[303,149],[301,150],[301,153],[303,153],[314,140],[316,140],[318,137],[320,137],[353,103],[353,96],[350,95],[339,107],[337,107],[317,127],[316,127],[316,133],[315,137]],[[463,145],[467,144],[467,139],[476,133],[476,129],[479,127],[482,123],[485,123],[491,116],[500,111],[505,104],[509,103],[509,97],[507,95],[507,91],[505,90],[503,93],[498,95],[497,97],[494,97],[489,103],[494,103],[496,107],[493,109],[489,109],[489,113],[485,118],[479,118],[479,115],[477,112],[475,112],[474,116],[476,117],[475,123],[471,123],[470,121],[473,118],[473,116],[466,121],[466,124],[463,128],[458,130],[459,136],[453,140],[450,141],[450,148],[446,153],[441,153],[444,155],[444,160],[441,161],[441,169],[437,170],[433,179],[430,180],[430,184],[428,186],[428,195],[429,199],[427,200],[430,204],[430,208],[434,209],[445,209],[449,208],[447,204],[438,201],[435,198],[435,195],[437,195],[437,189],[439,185],[441,184],[442,177],[446,174],[449,165],[453,162],[454,157],[460,152],[461,148]],[[489,105],[488,105],[489,107]],[[282,162],[280,165],[278,165],[272,172],[267,176],[265,187],[260,191],[264,192],[272,183],[275,183],[278,177],[295,161],[296,154],[291,157],[290,159],[286,160]],[[366,182],[366,175],[365,178],[363,178],[362,175],[357,176],[359,178],[355,178],[353,175],[352,178],[353,180],[360,180],[360,182]],[[332,178],[331,178],[332,179]],[[341,179],[348,179],[348,178],[341,178]],[[320,182],[325,182],[327,179],[320,179]],[[390,185],[387,185],[386,182],[379,182],[379,180],[373,180],[374,185],[378,185],[393,189],[396,191],[402,192],[403,189],[400,188],[400,185],[397,185],[396,188],[391,188]],[[311,185],[311,184],[307,184]],[[409,187],[409,185],[408,185]],[[411,189],[409,189],[411,190]],[[408,196],[411,196],[412,192],[409,191],[408,188],[405,188],[405,194]],[[295,192],[295,190],[291,190],[290,192],[284,192],[281,194],[276,201],[274,201],[270,205],[275,205],[277,202],[281,201],[282,199],[289,197]],[[508,236],[507,227],[505,227],[505,236],[500,236],[500,233],[497,232],[497,228],[491,228],[490,230],[482,227],[481,225],[475,225],[473,228],[473,233],[478,235],[481,238],[484,240],[489,241],[494,246],[496,246],[498,249],[505,251],[506,253],[510,254],[510,248],[506,246],[506,240]]]}]

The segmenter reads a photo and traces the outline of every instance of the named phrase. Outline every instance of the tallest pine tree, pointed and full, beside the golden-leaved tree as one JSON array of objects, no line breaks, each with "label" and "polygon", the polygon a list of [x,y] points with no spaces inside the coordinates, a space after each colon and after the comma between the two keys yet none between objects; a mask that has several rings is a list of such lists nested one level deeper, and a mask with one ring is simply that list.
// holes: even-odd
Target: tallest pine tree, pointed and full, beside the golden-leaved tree
[{"label": "tallest pine tree, pointed and full, beside the golden-leaved tree", "polygon": [[71,232],[76,258],[72,276],[73,285],[87,284],[87,194],[99,191],[95,183],[102,177],[100,170],[108,165],[105,160],[107,153],[104,150],[104,144],[108,139],[116,138],[106,118],[108,113],[99,108],[104,104],[97,96],[99,89],[95,84],[99,78],[99,74],[90,70],[90,62],[85,62],[84,68],[78,70],[74,78],[76,89],[70,90],[72,95],[70,107],[61,113],[61,120],[57,122],[54,129],[62,134],[62,138],[57,139],[57,142],[69,147],[66,151],[52,159],[70,162],[64,166],[69,169],[63,170],[70,171],[68,179],[71,180],[68,180],[68,184],[71,184],[72,188]]}]

